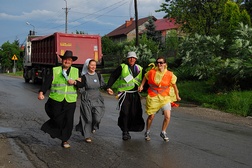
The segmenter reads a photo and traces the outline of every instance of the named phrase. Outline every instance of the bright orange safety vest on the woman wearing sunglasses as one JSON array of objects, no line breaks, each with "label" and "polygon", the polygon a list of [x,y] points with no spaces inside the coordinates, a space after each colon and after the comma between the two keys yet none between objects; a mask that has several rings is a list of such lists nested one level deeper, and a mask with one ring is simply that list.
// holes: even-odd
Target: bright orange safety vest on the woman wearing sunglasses
[{"label": "bright orange safety vest on the woman wearing sunglasses", "polygon": [[157,94],[160,94],[162,96],[168,96],[169,95],[169,86],[171,84],[171,78],[172,78],[172,72],[167,71],[164,76],[162,77],[162,80],[159,84],[156,84],[154,79],[156,75],[156,70],[152,69],[149,71],[149,78],[148,78],[148,94],[153,97]]}]

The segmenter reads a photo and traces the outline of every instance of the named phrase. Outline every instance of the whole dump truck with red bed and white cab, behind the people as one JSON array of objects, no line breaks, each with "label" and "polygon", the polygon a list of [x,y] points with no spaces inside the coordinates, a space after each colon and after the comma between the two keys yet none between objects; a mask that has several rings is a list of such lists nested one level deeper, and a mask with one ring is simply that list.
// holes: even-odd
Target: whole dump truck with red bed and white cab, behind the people
[{"label": "whole dump truck with red bed and white cab, behind the people", "polygon": [[66,50],[71,50],[73,55],[78,56],[72,66],[79,68],[80,71],[87,58],[96,60],[98,66],[103,65],[99,35],[59,32],[47,36],[29,35],[23,61],[25,82],[44,81],[45,75],[52,70],[52,67],[61,65],[59,55],[64,55]]}]

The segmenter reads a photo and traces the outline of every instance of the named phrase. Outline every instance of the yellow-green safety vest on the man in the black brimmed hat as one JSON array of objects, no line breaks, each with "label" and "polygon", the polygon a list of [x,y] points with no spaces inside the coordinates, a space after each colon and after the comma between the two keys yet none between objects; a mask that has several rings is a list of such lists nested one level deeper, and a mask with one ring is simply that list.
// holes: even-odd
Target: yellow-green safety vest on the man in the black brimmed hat
[{"label": "yellow-green safety vest on the man in the black brimmed hat", "polygon": [[[79,77],[79,70],[71,67],[69,78],[76,80]],[[67,102],[77,101],[77,89],[73,85],[69,85],[67,80],[62,75],[62,67],[53,68],[53,81],[51,85],[50,98],[55,101],[61,102],[66,99]]]}]

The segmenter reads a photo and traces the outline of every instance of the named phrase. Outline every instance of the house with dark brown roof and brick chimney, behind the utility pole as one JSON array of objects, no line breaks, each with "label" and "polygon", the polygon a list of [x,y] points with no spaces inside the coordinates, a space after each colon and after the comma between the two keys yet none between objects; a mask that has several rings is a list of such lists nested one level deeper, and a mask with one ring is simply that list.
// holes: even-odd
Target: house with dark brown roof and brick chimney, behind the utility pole
[{"label": "house with dark brown roof and brick chimney, behind the utility pole", "polygon": [[[153,20],[157,20],[153,17]],[[142,34],[146,28],[145,24],[148,23],[149,17],[145,17],[142,19],[138,19],[138,33]],[[115,30],[111,31],[107,34],[113,41],[130,41],[136,38],[136,30],[135,30],[135,20],[134,18],[130,18],[130,20],[126,20],[124,24],[116,28]]]}]

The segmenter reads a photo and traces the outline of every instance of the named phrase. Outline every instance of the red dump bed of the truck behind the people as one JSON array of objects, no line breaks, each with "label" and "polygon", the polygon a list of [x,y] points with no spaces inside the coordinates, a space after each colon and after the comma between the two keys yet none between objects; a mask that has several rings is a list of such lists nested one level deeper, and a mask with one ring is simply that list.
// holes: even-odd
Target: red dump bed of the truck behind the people
[{"label": "red dump bed of the truck behind the people", "polygon": [[56,32],[31,40],[31,63],[56,66],[61,63],[59,55],[71,50],[78,59],[73,66],[82,67],[87,58],[102,61],[101,37],[99,35],[65,34]]}]

